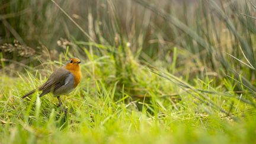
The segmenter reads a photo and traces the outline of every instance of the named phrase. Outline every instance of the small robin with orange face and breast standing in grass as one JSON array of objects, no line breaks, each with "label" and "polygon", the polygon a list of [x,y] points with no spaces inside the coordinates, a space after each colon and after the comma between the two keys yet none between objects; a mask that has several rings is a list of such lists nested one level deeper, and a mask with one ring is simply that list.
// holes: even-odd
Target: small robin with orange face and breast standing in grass
[{"label": "small robin with orange face and breast standing in grass", "polygon": [[39,97],[42,97],[49,92],[53,92],[53,95],[59,100],[58,106],[62,105],[60,95],[68,94],[76,88],[81,81],[82,75],[79,63],[81,63],[81,61],[76,57],[69,59],[64,66],[53,72],[43,85],[28,92],[22,98],[25,98],[36,91],[42,91]]}]

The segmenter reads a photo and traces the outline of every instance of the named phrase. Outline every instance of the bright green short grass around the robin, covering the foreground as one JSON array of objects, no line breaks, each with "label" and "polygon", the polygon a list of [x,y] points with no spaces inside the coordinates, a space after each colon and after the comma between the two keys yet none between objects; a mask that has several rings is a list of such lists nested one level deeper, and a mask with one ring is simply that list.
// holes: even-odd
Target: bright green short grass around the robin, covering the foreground
[{"label": "bright green short grass around the robin, covering the foreground", "polygon": [[[233,89],[230,79],[216,86],[213,79],[197,78],[191,86],[163,69],[140,65],[132,56],[124,67],[133,75],[120,78],[111,53],[87,55],[94,58],[82,60],[81,84],[61,97],[65,106],[59,108],[50,94],[20,99],[43,84],[50,71],[17,72],[18,77],[1,74],[0,143],[255,142],[254,106],[225,93],[225,87]],[[47,63],[59,66],[42,63],[46,69],[50,69]],[[121,73],[118,76],[127,75]]]}]

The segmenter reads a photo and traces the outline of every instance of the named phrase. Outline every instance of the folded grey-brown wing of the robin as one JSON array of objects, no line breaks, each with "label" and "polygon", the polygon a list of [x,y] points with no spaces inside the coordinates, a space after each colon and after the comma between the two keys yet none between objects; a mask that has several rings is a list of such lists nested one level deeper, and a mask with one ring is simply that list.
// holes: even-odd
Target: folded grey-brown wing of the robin
[{"label": "folded grey-brown wing of the robin", "polygon": [[42,93],[39,97],[48,94],[49,92],[55,91],[56,89],[65,85],[65,80],[71,72],[64,68],[59,68],[50,75],[49,79],[39,88]]}]

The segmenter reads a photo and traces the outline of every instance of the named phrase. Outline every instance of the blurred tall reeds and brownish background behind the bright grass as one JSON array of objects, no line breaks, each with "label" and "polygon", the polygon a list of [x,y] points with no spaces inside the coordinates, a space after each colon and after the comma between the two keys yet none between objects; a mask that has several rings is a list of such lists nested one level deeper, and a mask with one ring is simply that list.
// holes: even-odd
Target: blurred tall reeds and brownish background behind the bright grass
[{"label": "blurred tall reeds and brownish background behind the bright grass", "polygon": [[88,59],[88,50],[113,54],[117,66],[132,56],[177,76],[229,75],[255,89],[253,1],[55,2],[0,2],[1,69],[59,60],[67,50]]}]

